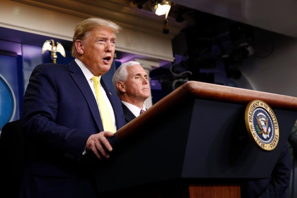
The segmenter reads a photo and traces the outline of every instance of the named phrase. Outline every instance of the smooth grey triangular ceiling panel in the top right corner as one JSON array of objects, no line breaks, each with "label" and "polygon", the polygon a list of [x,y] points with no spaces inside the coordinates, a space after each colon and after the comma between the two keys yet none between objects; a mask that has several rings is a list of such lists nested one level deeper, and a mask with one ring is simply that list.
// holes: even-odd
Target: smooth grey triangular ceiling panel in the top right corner
[{"label": "smooth grey triangular ceiling panel in the top right corner", "polygon": [[297,38],[297,0],[171,0],[171,2]]}]

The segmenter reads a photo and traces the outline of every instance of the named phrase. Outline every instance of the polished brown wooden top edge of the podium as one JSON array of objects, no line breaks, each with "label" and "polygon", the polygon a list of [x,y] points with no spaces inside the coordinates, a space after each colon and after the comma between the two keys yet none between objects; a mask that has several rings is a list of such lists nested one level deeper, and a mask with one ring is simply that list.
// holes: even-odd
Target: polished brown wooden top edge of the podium
[{"label": "polished brown wooden top edge of the podium", "polygon": [[202,98],[239,104],[248,104],[252,100],[261,100],[266,102],[271,108],[297,111],[296,97],[198,81],[188,81],[150,107],[145,114],[141,114],[130,123],[120,128],[116,133],[116,139],[118,142],[128,139],[128,137],[136,133],[135,131],[142,127],[144,123],[156,119],[156,116],[158,116],[156,112],[158,112],[158,114],[160,114],[160,112],[166,112],[168,109],[174,107],[174,105],[180,102],[186,102],[189,98]]}]

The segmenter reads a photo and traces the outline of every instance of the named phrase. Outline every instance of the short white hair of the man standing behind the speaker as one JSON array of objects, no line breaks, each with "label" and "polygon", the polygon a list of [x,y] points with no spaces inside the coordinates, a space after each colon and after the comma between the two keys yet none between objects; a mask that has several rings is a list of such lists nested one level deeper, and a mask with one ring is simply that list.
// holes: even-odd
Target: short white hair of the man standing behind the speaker
[{"label": "short white hair of the man standing behind the speaker", "polygon": [[120,96],[120,90],[118,90],[117,82],[118,81],[126,82],[128,77],[127,67],[131,67],[133,65],[140,65],[140,63],[136,61],[129,61],[129,62],[123,63],[117,69],[117,71],[115,71],[114,76],[112,77],[112,84],[114,85],[114,90],[118,96]]}]

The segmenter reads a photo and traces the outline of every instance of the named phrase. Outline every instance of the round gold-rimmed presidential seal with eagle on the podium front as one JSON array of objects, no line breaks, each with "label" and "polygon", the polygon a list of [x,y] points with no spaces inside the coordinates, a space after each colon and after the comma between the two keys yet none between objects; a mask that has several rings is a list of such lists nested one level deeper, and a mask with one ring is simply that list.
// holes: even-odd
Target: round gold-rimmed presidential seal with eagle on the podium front
[{"label": "round gold-rimmed presidential seal with eagle on the podium front", "polygon": [[261,150],[271,151],[278,144],[278,121],[265,102],[254,100],[248,103],[245,109],[245,125],[250,139]]}]

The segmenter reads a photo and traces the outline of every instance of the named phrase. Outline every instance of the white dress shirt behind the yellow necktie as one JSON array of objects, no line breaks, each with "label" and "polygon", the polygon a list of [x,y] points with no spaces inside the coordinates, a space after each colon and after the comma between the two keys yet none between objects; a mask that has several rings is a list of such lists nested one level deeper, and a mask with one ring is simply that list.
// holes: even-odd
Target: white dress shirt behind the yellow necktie
[{"label": "white dress shirt behind the yellow necktie", "polygon": [[[92,92],[94,94],[94,97],[95,97],[96,102],[97,102],[97,105],[98,105],[98,101],[97,101],[97,97],[96,97],[96,93],[95,93],[95,88],[94,88],[94,81],[91,79],[91,78],[93,78],[94,74],[88,69],[88,67],[86,67],[84,65],[83,62],[80,61],[80,59],[75,58],[74,61],[78,64],[78,66],[80,67],[81,71],[84,73],[84,76],[88,80],[88,83],[90,85],[90,88],[92,89]],[[100,79],[101,79],[101,76],[99,76],[99,80]],[[104,88],[101,86],[101,83],[100,83],[100,89],[101,89],[101,93],[103,95],[103,98],[104,98],[104,100],[106,102],[106,105],[107,105],[107,107],[109,109],[111,120],[112,120],[112,123],[114,124],[114,131],[117,131],[117,126],[116,126],[115,117],[114,117],[114,110],[112,109],[112,106],[110,104],[110,101],[109,101],[109,99],[108,99],[108,97],[106,95],[106,92],[105,92]],[[110,94],[111,95],[111,93],[107,93],[107,94]],[[98,105],[98,109],[99,109],[99,105]],[[99,111],[100,111],[100,109],[99,109]],[[100,115],[101,115],[101,112],[100,112]]]}]

